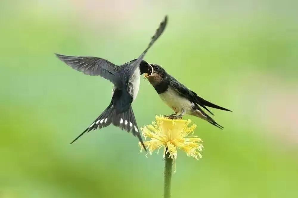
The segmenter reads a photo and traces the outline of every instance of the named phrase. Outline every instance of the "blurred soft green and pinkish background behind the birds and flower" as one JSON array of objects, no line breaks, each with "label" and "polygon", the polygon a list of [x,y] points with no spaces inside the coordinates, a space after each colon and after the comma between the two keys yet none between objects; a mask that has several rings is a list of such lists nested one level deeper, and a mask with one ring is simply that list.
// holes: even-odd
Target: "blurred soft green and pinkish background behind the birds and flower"
[{"label": "blurred soft green and pinkish background behind the birds and flower", "polygon": [[[54,53],[122,64],[145,57],[203,98],[223,131],[194,118],[199,161],[180,152],[176,197],[298,197],[297,1],[1,1],[0,197],[162,197],[162,154],[109,126],[69,142],[106,108],[112,85]],[[139,126],[171,114],[147,80]],[[185,116],[190,118],[190,116]]]}]

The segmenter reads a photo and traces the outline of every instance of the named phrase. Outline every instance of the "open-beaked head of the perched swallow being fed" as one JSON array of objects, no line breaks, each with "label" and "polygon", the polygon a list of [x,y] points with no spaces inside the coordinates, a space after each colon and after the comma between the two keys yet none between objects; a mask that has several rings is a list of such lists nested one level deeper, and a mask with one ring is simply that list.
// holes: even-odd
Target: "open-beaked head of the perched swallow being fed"
[{"label": "open-beaked head of the perched swallow being fed", "polygon": [[150,66],[151,68],[148,69],[149,73],[144,74],[145,78],[147,78],[152,85],[159,84],[165,78],[166,72],[164,68],[159,65],[150,64]]}]

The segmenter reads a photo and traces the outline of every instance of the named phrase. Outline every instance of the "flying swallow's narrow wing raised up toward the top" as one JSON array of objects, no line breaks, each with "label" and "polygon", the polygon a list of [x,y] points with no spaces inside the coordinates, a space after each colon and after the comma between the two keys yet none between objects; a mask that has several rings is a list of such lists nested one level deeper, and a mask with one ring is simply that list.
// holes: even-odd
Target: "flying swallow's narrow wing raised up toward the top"
[{"label": "flying swallow's narrow wing raised up toward the top", "polygon": [[139,67],[140,62],[143,60],[145,54],[147,53],[148,49],[153,45],[153,43],[159,38],[159,36],[162,34],[164,31],[165,27],[167,25],[167,16],[164,17],[164,20],[160,23],[159,28],[156,30],[155,34],[151,38],[151,41],[148,45],[148,47],[145,49],[145,51],[136,59],[135,62],[132,63],[131,65],[131,71],[129,78],[133,75],[134,71],[136,70],[137,67]]}]

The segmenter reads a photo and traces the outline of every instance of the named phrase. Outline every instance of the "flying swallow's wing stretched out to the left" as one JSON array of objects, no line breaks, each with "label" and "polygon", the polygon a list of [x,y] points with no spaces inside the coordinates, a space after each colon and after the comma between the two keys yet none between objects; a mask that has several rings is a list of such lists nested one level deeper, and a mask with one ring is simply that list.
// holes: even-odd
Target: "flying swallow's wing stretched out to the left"
[{"label": "flying swallow's wing stretched out to the left", "polygon": [[117,66],[105,59],[89,56],[65,56],[61,54],[56,54],[56,56],[77,71],[90,76],[101,76],[111,81],[114,85],[118,84],[119,77],[115,72],[115,67]]}]

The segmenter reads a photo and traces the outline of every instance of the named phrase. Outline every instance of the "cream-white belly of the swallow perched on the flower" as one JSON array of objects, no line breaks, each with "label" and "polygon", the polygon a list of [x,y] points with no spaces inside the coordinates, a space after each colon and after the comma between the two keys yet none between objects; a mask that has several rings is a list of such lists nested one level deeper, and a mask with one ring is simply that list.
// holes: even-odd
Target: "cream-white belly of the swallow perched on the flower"
[{"label": "cream-white belly of the swallow perched on the flower", "polygon": [[186,114],[192,111],[192,103],[187,98],[177,94],[176,90],[171,87],[166,92],[159,94],[159,97],[178,114],[182,113],[182,109]]}]

